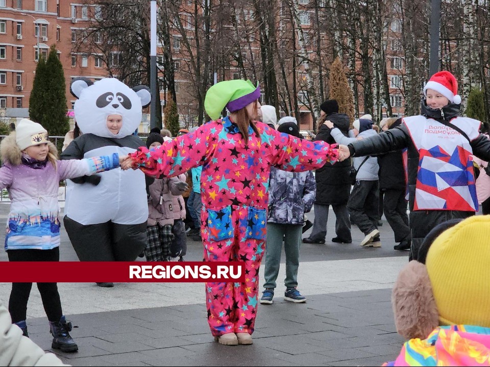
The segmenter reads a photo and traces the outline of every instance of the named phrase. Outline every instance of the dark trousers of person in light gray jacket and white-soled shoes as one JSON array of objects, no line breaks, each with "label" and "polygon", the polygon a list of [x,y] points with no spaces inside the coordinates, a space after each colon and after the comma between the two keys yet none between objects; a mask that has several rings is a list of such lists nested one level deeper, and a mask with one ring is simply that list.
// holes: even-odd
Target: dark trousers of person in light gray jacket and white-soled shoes
[{"label": "dark trousers of person in light gray jacket and white-soled shoes", "polygon": [[349,196],[347,209],[352,221],[364,234],[377,229],[379,181],[357,181]]}]

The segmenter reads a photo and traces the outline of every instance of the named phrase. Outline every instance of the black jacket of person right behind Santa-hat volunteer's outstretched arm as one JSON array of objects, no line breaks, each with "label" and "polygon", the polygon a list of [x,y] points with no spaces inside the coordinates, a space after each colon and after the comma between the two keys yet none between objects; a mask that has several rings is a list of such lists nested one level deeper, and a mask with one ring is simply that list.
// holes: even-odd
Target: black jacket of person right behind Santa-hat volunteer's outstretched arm
[{"label": "black jacket of person right behind Santa-hat volunteer's outstretched arm", "polygon": [[[400,126],[401,122],[402,119],[398,119],[389,128]],[[401,150],[378,155],[378,165],[380,190],[404,190],[406,188]]]}]

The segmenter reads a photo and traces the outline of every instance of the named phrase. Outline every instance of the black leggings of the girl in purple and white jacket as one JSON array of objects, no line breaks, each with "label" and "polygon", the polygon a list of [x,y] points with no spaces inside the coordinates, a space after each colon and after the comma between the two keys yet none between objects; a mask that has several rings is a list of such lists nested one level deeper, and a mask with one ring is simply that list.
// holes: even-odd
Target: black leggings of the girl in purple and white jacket
[{"label": "black leggings of the girl in purple and white jacket", "polygon": [[[59,261],[60,248],[52,250],[8,250],[9,261]],[[31,294],[32,283],[12,283],[10,293],[9,312],[12,323],[26,320],[27,302]],[[47,319],[58,322],[63,315],[61,309],[60,294],[56,283],[37,283],[37,289],[41,294],[42,305]]]}]

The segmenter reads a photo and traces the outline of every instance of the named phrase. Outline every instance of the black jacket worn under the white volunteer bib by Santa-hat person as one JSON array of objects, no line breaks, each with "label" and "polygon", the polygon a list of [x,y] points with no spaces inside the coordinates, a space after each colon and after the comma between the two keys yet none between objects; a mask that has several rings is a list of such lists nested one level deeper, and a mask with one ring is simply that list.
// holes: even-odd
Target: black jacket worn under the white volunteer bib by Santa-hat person
[{"label": "black jacket worn under the white volunteer bib by Santa-hat person", "polygon": [[[460,104],[448,104],[443,108],[444,118],[441,110],[434,110],[422,101],[421,115],[427,118],[433,118],[437,121],[450,121],[460,114]],[[359,140],[349,144],[351,155],[358,156],[387,153],[408,147],[408,190],[409,190],[409,208],[413,210],[415,184],[417,181],[417,172],[419,167],[419,151],[413,145],[412,139],[405,124],[401,124],[394,129],[389,129],[372,138]],[[478,158],[490,160],[490,140],[483,134],[471,141],[473,154]]]}]

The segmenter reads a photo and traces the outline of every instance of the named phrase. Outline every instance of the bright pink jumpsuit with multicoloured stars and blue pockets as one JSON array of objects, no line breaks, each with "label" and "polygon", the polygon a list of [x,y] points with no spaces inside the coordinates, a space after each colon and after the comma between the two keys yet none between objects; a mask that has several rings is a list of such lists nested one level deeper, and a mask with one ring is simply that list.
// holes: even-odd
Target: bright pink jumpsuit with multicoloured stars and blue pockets
[{"label": "bright pink jumpsuit with multicoloured stars and blue pockets", "polygon": [[301,172],[336,161],[337,150],[281,134],[256,122],[245,144],[228,117],[195,132],[130,156],[148,175],[175,176],[203,166],[201,234],[205,261],[241,261],[244,283],[206,283],[208,322],[213,336],[254,331],[259,267],[265,249],[268,179],[271,167]]}]

